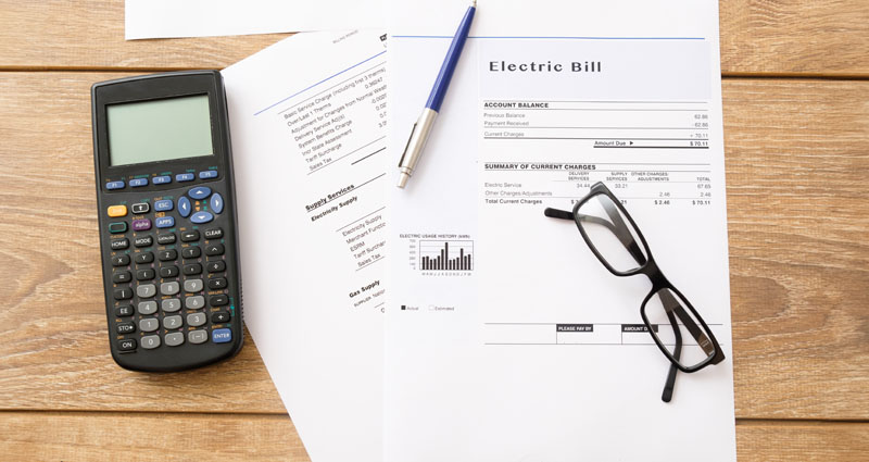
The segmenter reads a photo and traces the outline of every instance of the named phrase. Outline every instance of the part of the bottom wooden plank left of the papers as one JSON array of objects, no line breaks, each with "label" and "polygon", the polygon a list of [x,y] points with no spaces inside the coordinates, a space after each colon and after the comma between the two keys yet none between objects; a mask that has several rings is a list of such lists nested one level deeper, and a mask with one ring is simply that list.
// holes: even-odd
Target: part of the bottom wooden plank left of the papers
[{"label": "part of the bottom wooden plank left of the papers", "polygon": [[9,461],[310,461],[286,414],[0,412],[0,453]]}]

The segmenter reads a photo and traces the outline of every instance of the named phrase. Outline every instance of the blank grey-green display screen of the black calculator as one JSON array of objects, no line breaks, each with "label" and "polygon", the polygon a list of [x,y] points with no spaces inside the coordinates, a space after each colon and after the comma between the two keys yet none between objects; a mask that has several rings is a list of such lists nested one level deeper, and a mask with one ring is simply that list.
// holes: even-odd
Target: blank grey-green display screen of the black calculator
[{"label": "blank grey-green display screen of the black calculator", "polygon": [[109,164],[213,155],[209,96],[106,105]]}]

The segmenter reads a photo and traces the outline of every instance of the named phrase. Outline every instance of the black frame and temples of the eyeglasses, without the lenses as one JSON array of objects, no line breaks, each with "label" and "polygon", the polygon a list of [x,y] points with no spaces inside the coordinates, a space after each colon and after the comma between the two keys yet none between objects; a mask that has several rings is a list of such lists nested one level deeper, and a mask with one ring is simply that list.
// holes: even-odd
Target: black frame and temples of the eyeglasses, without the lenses
[{"label": "black frame and temples of the eyeglasses, without the lenses", "polygon": [[[621,212],[621,215],[625,216],[630,222],[630,228],[632,228],[637,233],[637,237],[639,237],[640,244],[643,246],[642,249],[638,246],[635,239],[630,234],[630,232],[619,233],[619,229],[617,229],[613,223],[606,220],[599,218],[596,216],[583,215],[579,213],[579,209],[584,203],[601,195],[607,196],[612,200],[612,202],[618,208],[618,211]],[[618,213],[612,213],[612,212],[613,211],[607,210],[607,214],[610,215],[610,218],[614,222],[618,222],[617,224],[622,225],[625,229],[630,229],[627,227],[627,225],[624,224],[624,222],[621,222],[621,217],[618,215]],[[669,402],[670,399],[672,398],[672,390],[676,383],[677,370],[685,373],[697,372],[710,364],[718,364],[725,360],[725,352],[721,349],[721,346],[718,345],[718,340],[715,338],[715,335],[713,334],[709,326],[706,325],[706,322],[703,321],[703,317],[700,315],[700,313],[697,313],[697,310],[694,309],[694,307],[691,304],[688,298],[685,298],[682,295],[682,292],[680,292],[679,289],[677,289],[676,286],[673,286],[672,283],[670,283],[669,279],[667,279],[667,277],[660,271],[660,267],[658,267],[654,257],[652,257],[652,251],[648,249],[648,244],[645,240],[645,236],[643,236],[643,233],[640,230],[640,227],[637,226],[637,223],[633,221],[633,217],[630,215],[630,213],[628,213],[627,209],[625,209],[625,205],[622,205],[621,201],[618,200],[618,198],[616,198],[616,196],[613,193],[613,191],[609,190],[609,188],[606,187],[606,185],[600,182],[595,183],[591,187],[591,191],[589,191],[589,193],[584,198],[577,201],[577,203],[574,205],[572,212],[568,212],[566,210],[546,208],[546,210],[544,210],[543,213],[546,216],[553,218],[572,220],[577,225],[579,233],[582,235],[582,239],[585,241],[585,245],[589,246],[592,253],[594,253],[594,255],[597,257],[597,260],[614,275],[620,277],[627,277],[637,274],[644,274],[652,282],[652,290],[648,292],[648,295],[645,296],[642,304],[640,305],[640,316],[643,319],[643,323],[645,324],[648,334],[652,336],[652,339],[655,341],[655,345],[657,345],[660,352],[664,353],[664,355],[670,361],[670,371],[667,374],[667,382],[664,386],[664,394],[662,395],[662,400],[664,400],[665,402]],[[582,221],[589,221],[608,227],[616,235],[619,241],[625,246],[625,248],[631,253],[634,260],[637,260],[640,266],[630,271],[617,271],[616,269],[614,269],[609,264],[609,262],[607,262],[606,259],[601,254],[597,248],[594,247],[594,242],[589,238],[589,235],[585,233],[585,229],[582,225]],[[643,254],[643,251],[645,251],[645,254]],[[702,329],[700,326],[696,325],[696,323],[694,323],[691,316],[688,315],[688,313],[685,313],[684,310],[682,310],[680,302],[673,299],[669,294],[667,294],[667,291],[663,291],[664,289],[667,289],[670,292],[676,294],[677,297],[679,297],[679,300],[681,300],[681,304],[684,304],[685,308],[688,308],[691,311],[691,314],[694,315],[694,319],[696,319],[700,322],[701,326],[703,327]],[[652,323],[648,322],[648,316],[646,316],[645,313],[646,304],[648,303],[648,300],[651,300],[652,297],[655,296],[655,294],[660,294],[659,297],[662,298],[662,302],[669,307],[669,309],[666,310],[667,317],[670,324],[672,325],[673,333],[676,335],[676,348],[673,349],[672,353],[664,346],[664,344],[660,341],[657,335],[655,335]],[[681,337],[681,332],[678,327],[678,321],[676,319],[677,316],[679,317],[679,320],[682,321],[685,329],[688,329],[691,333],[691,335],[695,339],[697,339],[700,347],[708,354],[708,357],[704,361],[695,365],[684,366],[681,363],[679,363],[679,357],[681,355],[681,349],[682,349],[682,337]],[[706,341],[705,342],[702,341],[701,337],[706,337]],[[709,354],[709,350],[714,350],[714,352]]]}]

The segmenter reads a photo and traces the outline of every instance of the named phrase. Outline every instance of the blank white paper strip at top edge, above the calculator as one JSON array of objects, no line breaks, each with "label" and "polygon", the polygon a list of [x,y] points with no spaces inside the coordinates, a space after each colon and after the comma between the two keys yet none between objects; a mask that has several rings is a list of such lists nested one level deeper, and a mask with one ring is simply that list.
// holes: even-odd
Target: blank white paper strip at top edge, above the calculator
[{"label": "blank white paper strip at top edge, above the calculator", "polygon": [[206,37],[382,28],[381,0],[126,0],[125,36]]}]

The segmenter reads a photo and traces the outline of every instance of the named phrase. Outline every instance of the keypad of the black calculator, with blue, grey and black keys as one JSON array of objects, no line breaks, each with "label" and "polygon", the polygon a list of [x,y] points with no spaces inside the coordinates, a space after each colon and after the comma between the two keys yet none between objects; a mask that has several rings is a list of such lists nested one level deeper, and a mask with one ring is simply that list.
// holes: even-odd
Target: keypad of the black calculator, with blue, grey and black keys
[{"label": "keypad of the black calculator, with blue, grey and black keys", "polygon": [[[161,179],[154,184],[172,183],[155,178]],[[193,179],[188,178],[175,177]],[[147,185],[130,180],[129,186],[140,183]],[[232,340],[237,321],[230,289],[236,288],[227,274],[224,229],[212,223],[223,212],[223,196],[206,186],[104,209],[115,220],[105,232],[118,352],[179,351]]]}]

